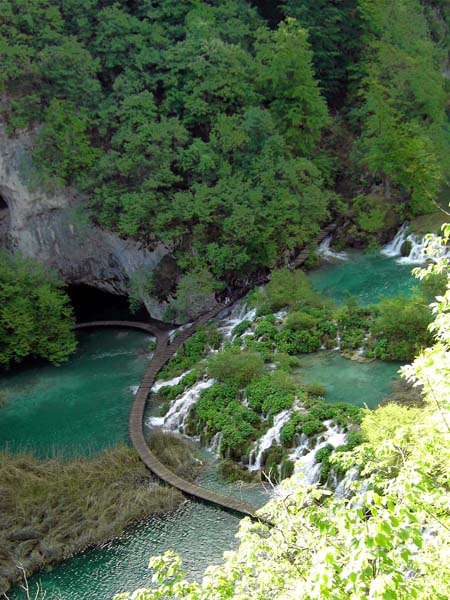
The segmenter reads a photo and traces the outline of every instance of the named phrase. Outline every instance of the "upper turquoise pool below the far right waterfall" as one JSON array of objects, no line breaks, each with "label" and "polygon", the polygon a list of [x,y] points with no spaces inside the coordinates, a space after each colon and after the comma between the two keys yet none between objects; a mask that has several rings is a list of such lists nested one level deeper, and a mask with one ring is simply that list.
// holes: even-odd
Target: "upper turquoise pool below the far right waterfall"
[{"label": "upper turquoise pool below the far right waterfall", "polygon": [[411,265],[402,265],[382,254],[350,251],[348,260],[325,263],[309,273],[314,288],[338,303],[348,293],[363,305],[383,296],[410,295],[417,285]]}]

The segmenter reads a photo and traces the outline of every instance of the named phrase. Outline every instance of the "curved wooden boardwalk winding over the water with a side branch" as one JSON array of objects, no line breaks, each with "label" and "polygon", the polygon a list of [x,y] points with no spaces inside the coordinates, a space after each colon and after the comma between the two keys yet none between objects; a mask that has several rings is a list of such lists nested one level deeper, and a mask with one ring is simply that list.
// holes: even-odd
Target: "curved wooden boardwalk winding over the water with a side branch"
[{"label": "curved wooden boardwalk winding over the water with a side branch", "polygon": [[[334,225],[329,225],[315,238],[315,242],[320,244],[326,237],[335,229]],[[289,264],[290,269],[295,269],[302,266],[309,256],[309,250],[304,250]],[[269,276],[265,281],[269,279]],[[261,280],[259,283],[264,283]],[[249,288],[250,289],[250,288]],[[134,448],[137,450],[142,462],[147,466],[154,475],[156,475],[161,481],[164,481],[173,487],[177,488],[187,496],[202,500],[209,504],[220,506],[226,510],[238,513],[240,515],[250,516],[252,519],[264,520],[256,515],[257,509],[243,502],[238,498],[232,498],[219,494],[212,490],[204,487],[200,487],[189,481],[186,481],[182,477],[175,475],[173,471],[168,469],[153,452],[150,451],[145,441],[144,436],[144,413],[147,404],[147,399],[150,394],[151,388],[155,383],[157,376],[163,366],[170,360],[170,358],[176,354],[177,350],[188,340],[193,333],[195,333],[199,325],[203,325],[216,317],[220,312],[226,308],[230,308],[236,300],[241,298],[249,290],[242,290],[240,294],[235,297],[232,302],[228,304],[216,304],[210,311],[202,315],[194,323],[192,323],[186,329],[180,331],[180,333],[171,342],[169,339],[169,332],[167,329],[159,327],[156,323],[146,323],[141,321],[90,321],[88,323],[79,323],[75,325],[75,330],[95,328],[95,327],[126,327],[132,329],[138,329],[144,331],[150,335],[153,335],[157,339],[156,350],[145,369],[144,375],[141,379],[139,388],[136,396],[134,397],[133,404],[131,406],[130,416],[128,419],[128,428],[130,433],[131,442]]]}]

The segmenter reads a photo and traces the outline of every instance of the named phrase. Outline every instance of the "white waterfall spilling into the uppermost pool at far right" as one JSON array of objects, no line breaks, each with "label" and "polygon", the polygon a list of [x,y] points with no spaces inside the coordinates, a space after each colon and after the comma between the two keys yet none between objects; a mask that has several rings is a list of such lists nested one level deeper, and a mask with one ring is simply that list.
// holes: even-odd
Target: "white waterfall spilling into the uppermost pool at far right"
[{"label": "white waterfall spilling into the uppermost pool at far right", "polygon": [[[429,242],[426,236],[419,236],[413,233],[407,234],[408,224],[404,223],[396,233],[392,242],[389,242],[382,250],[381,254],[390,257],[398,257],[399,264],[421,265],[428,260],[437,258],[450,258],[450,248],[438,243],[436,240]],[[408,256],[401,256],[401,249],[404,242],[411,244],[411,251]],[[427,249],[431,248],[434,253],[428,254]]]}]

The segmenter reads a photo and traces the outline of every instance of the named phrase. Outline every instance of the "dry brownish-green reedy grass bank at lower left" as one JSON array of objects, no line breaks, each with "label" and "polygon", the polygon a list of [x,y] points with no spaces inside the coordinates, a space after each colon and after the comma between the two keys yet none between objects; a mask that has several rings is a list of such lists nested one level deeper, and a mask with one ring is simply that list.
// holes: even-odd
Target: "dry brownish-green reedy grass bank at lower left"
[{"label": "dry brownish-green reedy grass bank at lower left", "polygon": [[18,565],[29,576],[181,501],[126,446],[71,461],[0,453],[0,594],[22,578]]}]

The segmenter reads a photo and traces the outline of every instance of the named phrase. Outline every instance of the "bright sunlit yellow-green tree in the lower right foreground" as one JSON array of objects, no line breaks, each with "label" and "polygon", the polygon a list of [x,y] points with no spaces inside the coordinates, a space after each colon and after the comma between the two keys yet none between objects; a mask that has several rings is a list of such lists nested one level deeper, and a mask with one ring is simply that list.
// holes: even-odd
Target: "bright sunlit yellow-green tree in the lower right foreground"
[{"label": "bright sunlit yellow-green tree in the lower right foreground", "polygon": [[[450,241],[450,226],[445,230]],[[172,552],[151,559],[152,590],[117,600],[444,600],[450,592],[450,275],[433,304],[434,345],[403,376],[423,387],[425,408],[367,411],[365,443],[331,458],[357,468],[350,498],[294,476],[260,515],[241,524],[240,546],[202,582],[184,579]]]}]

